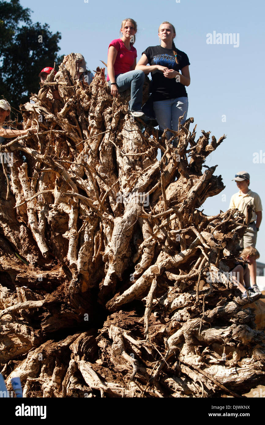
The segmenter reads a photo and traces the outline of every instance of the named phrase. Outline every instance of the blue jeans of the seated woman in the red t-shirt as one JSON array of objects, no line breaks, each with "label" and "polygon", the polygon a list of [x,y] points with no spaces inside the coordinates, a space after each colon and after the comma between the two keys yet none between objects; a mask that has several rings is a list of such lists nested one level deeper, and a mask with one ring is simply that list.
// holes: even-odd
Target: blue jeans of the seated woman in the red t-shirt
[{"label": "blue jeans of the seated woman in the red t-shirt", "polygon": [[[131,87],[131,100],[129,102],[130,111],[141,111],[142,108],[142,86],[145,81],[143,71],[129,71],[124,74],[115,75],[118,90],[120,93]],[[111,82],[108,81],[111,86]]]}]

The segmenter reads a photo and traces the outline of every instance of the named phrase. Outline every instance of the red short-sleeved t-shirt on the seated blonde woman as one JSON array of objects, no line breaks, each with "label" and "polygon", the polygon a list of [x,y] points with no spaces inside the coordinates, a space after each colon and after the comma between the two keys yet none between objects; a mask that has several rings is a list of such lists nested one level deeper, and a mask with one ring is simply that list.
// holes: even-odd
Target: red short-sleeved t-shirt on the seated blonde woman
[{"label": "red short-sleeved t-shirt on the seated blonde woman", "polygon": [[[131,46],[131,50],[126,49],[123,41],[120,38],[112,40],[108,48],[110,46],[115,47],[118,52],[114,62],[114,74],[124,74],[125,72],[131,71],[131,66],[134,63],[134,59],[137,57],[136,48]],[[109,81],[108,75],[107,81]]]}]

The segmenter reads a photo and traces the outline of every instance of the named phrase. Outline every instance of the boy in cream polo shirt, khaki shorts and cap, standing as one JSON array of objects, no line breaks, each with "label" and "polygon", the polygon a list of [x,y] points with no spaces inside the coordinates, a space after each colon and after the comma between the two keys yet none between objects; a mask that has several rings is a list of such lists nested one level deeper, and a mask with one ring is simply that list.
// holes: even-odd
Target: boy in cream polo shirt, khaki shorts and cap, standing
[{"label": "boy in cream polo shirt, khaki shorts and cap, standing", "polygon": [[[251,221],[245,230],[242,240],[240,241],[240,246],[241,248],[246,248],[247,246],[253,246],[255,248],[257,232],[259,231],[259,226],[262,221],[261,199],[256,192],[252,192],[252,190],[249,189],[250,176],[246,171],[239,171],[233,180],[236,181],[239,192],[235,193],[231,197],[229,209],[237,208],[246,215],[247,205],[252,206]],[[252,264],[248,264],[248,268],[252,288],[255,292],[259,292],[259,288],[256,284],[256,261]]]}]

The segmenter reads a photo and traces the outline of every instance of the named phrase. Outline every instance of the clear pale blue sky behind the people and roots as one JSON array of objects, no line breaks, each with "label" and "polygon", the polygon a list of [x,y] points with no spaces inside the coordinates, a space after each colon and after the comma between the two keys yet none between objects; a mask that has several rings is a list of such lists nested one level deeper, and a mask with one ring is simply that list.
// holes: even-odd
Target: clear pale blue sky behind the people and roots
[{"label": "clear pale blue sky behind the people and roots", "polygon": [[[191,85],[187,88],[188,116],[200,130],[227,139],[211,154],[207,165],[218,164],[225,190],[208,198],[204,212],[211,215],[227,210],[231,195],[237,192],[234,174],[246,170],[251,190],[259,193],[265,206],[265,163],[254,163],[254,154],[264,153],[262,119],[265,116],[264,44],[265,5],[262,0],[21,0],[29,7],[34,22],[48,23],[51,31],[62,34],[61,54],[82,53],[88,69],[107,61],[108,44],[119,37],[120,23],[126,17],[137,21],[135,48],[138,59],[149,45],[158,44],[158,27],[164,20],[177,31],[175,44],[188,54]],[[239,46],[207,44],[206,34],[239,34]],[[238,38],[235,39],[235,43]],[[52,66],[51,63],[43,66]],[[225,122],[224,121],[225,115]],[[191,127],[192,128],[192,127]],[[261,158],[262,162],[262,158]],[[226,195],[226,201],[224,196]],[[265,213],[256,245],[265,263]]]}]

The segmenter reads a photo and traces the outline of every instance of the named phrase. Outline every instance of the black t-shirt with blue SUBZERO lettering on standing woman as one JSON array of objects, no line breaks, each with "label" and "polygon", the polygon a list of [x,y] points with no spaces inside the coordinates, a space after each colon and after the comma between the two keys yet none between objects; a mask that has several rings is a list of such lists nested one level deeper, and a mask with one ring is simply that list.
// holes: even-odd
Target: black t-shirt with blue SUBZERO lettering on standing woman
[{"label": "black t-shirt with blue SUBZERO lettering on standing woman", "polygon": [[[184,66],[190,65],[188,56],[179,49],[177,51],[177,61],[174,51],[161,46],[150,46],[142,54],[145,54],[150,65],[162,65],[175,71],[180,71]],[[188,97],[185,85],[177,82],[175,78],[165,78],[162,71],[151,72],[152,76],[152,97],[154,101],[175,99],[176,97]]]}]

